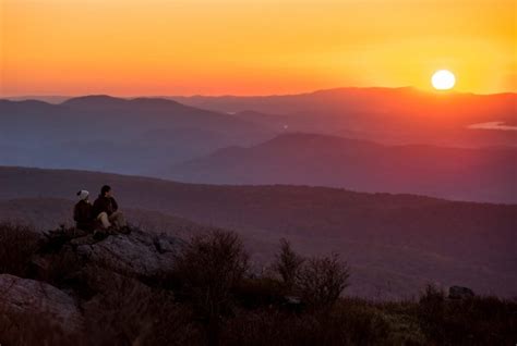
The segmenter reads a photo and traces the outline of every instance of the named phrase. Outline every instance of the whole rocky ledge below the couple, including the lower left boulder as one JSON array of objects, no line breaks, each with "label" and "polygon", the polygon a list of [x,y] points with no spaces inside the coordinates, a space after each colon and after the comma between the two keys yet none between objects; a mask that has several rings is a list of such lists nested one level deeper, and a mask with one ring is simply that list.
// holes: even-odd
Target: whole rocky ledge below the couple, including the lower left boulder
[{"label": "whole rocky ledge below the couple, including the lower left boulder", "polygon": [[22,337],[26,322],[19,317],[26,318],[27,311],[38,328],[61,335],[84,332],[83,311],[113,291],[113,282],[147,289],[148,282],[172,270],[183,244],[179,237],[141,230],[101,239],[77,230],[49,232],[31,261],[29,279],[0,274],[0,332],[15,330]]}]

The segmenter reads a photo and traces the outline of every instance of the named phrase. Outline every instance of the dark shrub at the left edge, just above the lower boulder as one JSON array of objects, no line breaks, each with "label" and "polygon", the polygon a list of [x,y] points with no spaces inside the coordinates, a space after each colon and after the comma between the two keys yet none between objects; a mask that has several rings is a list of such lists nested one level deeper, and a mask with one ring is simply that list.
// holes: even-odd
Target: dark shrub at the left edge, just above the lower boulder
[{"label": "dark shrub at the left edge, just above the lower boulder", "polygon": [[39,235],[29,226],[0,223],[0,274],[25,276]]}]

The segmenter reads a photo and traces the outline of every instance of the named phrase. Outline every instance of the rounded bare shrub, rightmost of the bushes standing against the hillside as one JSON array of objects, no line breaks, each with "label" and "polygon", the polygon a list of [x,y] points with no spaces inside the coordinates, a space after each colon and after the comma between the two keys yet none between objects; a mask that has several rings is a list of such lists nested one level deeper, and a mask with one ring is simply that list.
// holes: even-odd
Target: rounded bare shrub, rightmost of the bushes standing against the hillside
[{"label": "rounded bare shrub, rightmost of the bushes standing against the hillside", "polygon": [[297,287],[303,301],[313,309],[332,307],[348,286],[348,264],[338,255],[312,258],[301,268]]}]

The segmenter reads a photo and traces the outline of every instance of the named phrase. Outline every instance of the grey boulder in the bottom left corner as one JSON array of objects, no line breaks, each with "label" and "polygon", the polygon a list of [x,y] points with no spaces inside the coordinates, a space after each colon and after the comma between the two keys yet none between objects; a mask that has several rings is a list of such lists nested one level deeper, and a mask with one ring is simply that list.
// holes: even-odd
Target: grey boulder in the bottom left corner
[{"label": "grey boulder in the bottom left corner", "polygon": [[0,314],[2,324],[19,325],[16,319],[23,317],[24,322],[32,318],[40,328],[59,329],[64,334],[79,333],[83,328],[71,296],[49,284],[9,274],[0,274]]}]

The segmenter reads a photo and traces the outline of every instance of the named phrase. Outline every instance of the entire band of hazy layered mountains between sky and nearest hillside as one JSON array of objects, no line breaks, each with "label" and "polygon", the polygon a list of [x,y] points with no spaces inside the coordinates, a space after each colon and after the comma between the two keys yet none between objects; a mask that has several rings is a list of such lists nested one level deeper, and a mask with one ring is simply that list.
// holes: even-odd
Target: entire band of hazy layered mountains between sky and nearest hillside
[{"label": "entire band of hazy layered mountains between sky and nearest hillside", "polygon": [[[0,164],[517,201],[516,94],[342,88],[176,99],[190,106],[103,95],[0,100]],[[472,127],[496,121],[506,129]]]}]

